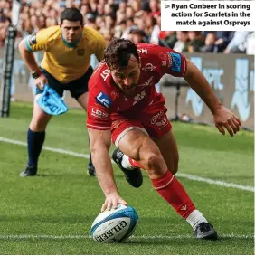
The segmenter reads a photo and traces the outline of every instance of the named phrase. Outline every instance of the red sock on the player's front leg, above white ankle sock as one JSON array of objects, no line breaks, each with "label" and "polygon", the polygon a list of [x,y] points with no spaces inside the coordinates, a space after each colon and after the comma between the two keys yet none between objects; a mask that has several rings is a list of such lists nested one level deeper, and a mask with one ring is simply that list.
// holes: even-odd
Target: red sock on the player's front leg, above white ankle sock
[{"label": "red sock on the player's front leg, above white ankle sock", "polygon": [[171,204],[177,213],[186,219],[195,210],[194,204],[184,186],[167,170],[165,175],[151,180],[156,192]]}]

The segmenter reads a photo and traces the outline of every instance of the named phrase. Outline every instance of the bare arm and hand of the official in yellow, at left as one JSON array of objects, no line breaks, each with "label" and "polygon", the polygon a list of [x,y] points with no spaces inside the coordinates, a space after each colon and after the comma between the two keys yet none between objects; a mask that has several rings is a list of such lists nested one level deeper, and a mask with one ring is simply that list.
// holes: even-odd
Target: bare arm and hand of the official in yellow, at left
[{"label": "bare arm and hand of the official in yellow, at left", "polygon": [[35,61],[33,52],[29,52],[26,45],[25,45],[25,38],[19,43],[18,48],[19,52],[21,53],[22,58],[24,59],[24,62],[26,63],[26,66],[28,67],[29,71],[31,72],[37,72],[38,78],[35,79],[35,85],[39,87],[40,89],[43,88],[44,84],[48,83],[45,76],[42,75],[42,72],[40,71],[37,62]]}]

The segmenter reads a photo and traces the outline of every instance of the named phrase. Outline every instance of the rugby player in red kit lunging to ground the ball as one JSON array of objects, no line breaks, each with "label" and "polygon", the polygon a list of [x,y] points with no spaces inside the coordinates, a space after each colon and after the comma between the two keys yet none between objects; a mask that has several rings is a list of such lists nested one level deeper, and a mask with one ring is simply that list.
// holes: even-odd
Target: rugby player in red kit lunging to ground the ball
[{"label": "rugby player in red kit lunging to ground the ball", "polygon": [[203,73],[182,54],[154,44],[113,40],[89,81],[87,128],[92,160],[106,197],[101,210],[127,204],[114,180],[109,157],[112,140],[118,147],[112,158],[130,185],[142,185],[140,168],[145,169],[156,192],[190,223],[196,238],[217,239],[213,225],[175,178],[179,159],[175,137],[165,115],[165,99],[155,89],[165,73],[184,77],[211,109],[222,134],[223,127],[231,136],[240,129],[240,119],[223,107]]}]

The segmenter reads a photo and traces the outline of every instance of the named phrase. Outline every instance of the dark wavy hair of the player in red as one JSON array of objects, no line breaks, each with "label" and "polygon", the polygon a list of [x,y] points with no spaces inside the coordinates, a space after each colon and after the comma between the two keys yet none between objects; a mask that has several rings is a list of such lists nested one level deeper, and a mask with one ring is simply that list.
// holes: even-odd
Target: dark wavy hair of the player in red
[{"label": "dark wavy hair of the player in red", "polygon": [[105,62],[110,70],[123,70],[127,68],[131,55],[135,55],[139,62],[137,46],[127,39],[113,39],[105,50]]}]

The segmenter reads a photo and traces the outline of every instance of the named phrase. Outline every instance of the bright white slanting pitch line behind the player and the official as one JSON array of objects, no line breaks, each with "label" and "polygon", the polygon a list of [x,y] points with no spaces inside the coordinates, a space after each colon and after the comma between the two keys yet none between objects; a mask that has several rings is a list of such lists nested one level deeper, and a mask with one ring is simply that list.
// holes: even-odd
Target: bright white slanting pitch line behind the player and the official
[{"label": "bright white slanting pitch line behind the player and the official", "polygon": [[[27,146],[27,144],[23,141],[14,140],[14,139],[6,138],[6,137],[0,137],[0,142],[1,141],[6,142],[6,143],[11,143],[11,144],[14,144],[14,145]],[[88,154],[80,154],[80,153],[72,152],[72,151],[69,151],[69,150],[64,150],[64,149],[61,149],[61,148],[42,147],[42,149],[47,150],[47,151],[60,153],[60,154],[70,155],[70,156],[77,156],[77,157],[86,158],[86,159],[90,158],[90,155],[88,155]],[[234,184],[234,183],[227,183],[227,182],[220,181],[220,180],[213,180],[213,179],[209,179],[209,178],[203,178],[203,177],[195,176],[195,175],[177,174],[176,176],[184,177],[184,178],[187,178],[189,180],[201,181],[201,182],[208,183],[208,184],[211,184],[211,185],[220,185],[220,186],[224,186],[224,187],[232,187],[232,188],[251,191],[251,192],[255,193],[255,188],[254,188],[254,186],[251,186],[251,185],[238,185],[238,184]]]}]

